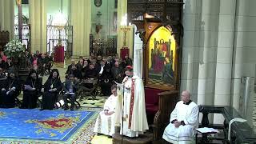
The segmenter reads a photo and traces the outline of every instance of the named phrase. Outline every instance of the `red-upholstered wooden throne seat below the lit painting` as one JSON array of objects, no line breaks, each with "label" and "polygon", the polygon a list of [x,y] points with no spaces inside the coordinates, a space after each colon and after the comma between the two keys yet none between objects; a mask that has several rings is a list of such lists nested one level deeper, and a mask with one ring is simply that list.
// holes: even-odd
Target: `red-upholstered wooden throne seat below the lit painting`
[{"label": "red-upholstered wooden throne seat below the lit painting", "polygon": [[163,131],[169,124],[170,113],[174,110],[176,102],[178,102],[178,91],[146,88],[145,101],[147,117],[151,118],[148,121],[149,123],[153,121],[153,141],[158,143],[162,139]]}]

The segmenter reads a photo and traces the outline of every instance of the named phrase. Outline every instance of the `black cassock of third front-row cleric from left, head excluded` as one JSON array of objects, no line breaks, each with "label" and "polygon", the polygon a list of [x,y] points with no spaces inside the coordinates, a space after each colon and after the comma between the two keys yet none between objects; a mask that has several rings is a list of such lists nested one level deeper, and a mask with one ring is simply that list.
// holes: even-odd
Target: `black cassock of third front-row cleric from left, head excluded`
[{"label": "black cassock of third front-row cleric from left, head excluded", "polygon": [[[52,88],[51,88],[52,86]],[[58,93],[62,90],[62,82],[59,78],[48,78],[43,86],[44,93],[42,94],[42,109],[54,110],[54,104],[58,100]],[[49,91],[56,88],[56,91]]]}]

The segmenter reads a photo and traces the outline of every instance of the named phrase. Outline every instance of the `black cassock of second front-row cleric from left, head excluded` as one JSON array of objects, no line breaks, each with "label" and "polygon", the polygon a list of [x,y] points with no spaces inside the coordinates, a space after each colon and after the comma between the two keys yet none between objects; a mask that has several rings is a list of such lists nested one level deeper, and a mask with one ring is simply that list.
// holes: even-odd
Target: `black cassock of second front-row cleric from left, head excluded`
[{"label": "black cassock of second front-row cleric from left, head excluded", "polygon": [[28,77],[26,78],[25,85],[29,85],[31,88],[35,88],[35,90],[23,90],[22,108],[34,109],[37,107],[38,95],[42,89],[42,82],[38,78],[33,79]]}]

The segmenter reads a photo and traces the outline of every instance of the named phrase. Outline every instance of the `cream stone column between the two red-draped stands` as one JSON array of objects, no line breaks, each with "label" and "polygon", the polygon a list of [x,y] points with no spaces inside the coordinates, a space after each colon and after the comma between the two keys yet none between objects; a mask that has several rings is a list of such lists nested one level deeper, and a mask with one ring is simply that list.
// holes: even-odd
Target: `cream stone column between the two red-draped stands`
[{"label": "cream stone column between the two red-draped stands", "polygon": [[71,26],[73,26],[73,55],[90,55],[91,1],[71,1]]}]

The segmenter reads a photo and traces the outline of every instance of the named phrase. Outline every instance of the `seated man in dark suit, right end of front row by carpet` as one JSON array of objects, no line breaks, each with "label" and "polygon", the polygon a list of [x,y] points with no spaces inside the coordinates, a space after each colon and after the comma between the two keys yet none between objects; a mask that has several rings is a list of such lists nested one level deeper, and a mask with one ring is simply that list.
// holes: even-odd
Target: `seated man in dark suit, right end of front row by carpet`
[{"label": "seated man in dark suit, right end of front row by carpet", "polygon": [[64,100],[64,110],[68,110],[68,100],[67,98],[70,98],[71,101],[71,106],[70,110],[74,110],[74,102],[76,99],[76,92],[78,90],[78,81],[74,78],[74,74],[70,74],[69,78],[66,79],[66,82],[63,84],[63,90],[65,94],[63,95],[63,100]]}]

